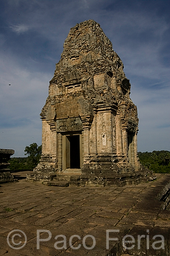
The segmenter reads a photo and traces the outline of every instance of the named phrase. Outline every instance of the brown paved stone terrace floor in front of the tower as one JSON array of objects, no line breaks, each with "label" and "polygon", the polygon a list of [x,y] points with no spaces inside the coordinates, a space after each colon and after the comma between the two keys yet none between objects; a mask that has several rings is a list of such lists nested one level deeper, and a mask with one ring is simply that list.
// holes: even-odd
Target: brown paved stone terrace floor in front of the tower
[{"label": "brown paved stone terrace floor in front of the tower", "polygon": [[[14,175],[18,182],[0,186],[0,256],[170,255],[170,212],[161,210],[162,202],[155,199],[170,182],[170,175],[159,174],[157,180],[137,185],[80,188],[27,182],[24,172]],[[16,248],[24,245],[24,236],[14,229],[20,229],[27,236],[27,243],[20,249]],[[109,231],[108,241],[109,229],[112,232]],[[10,234],[7,243],[10,231],[14,233]],[[13,237],[12,241],[15,233],[20,237]],[[122,238],[126,233],[134,237],[135,244],[125,252],[122,251]],[[77,237],[71,237],[73,235]],[[145,238],[141,239],[140,249],[137,248],[137,235],[148,235],[148,249]],[[165,249],[161,243],[153,249],[155,235],[165,238]],[[69,240],[78,248],[71,248]],[[94,248],[90,249],[92,246]]]}]

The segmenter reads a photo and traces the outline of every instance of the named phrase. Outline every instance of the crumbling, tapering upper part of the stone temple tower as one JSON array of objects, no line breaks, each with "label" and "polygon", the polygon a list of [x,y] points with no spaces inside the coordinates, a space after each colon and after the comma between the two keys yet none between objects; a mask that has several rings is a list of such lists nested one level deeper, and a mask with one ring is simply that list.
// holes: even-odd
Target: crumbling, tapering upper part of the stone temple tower
[{"label": "crumbling, tapering upper part of the stone temple tower", "polygon": [[[130,91],[130,83],[124,74],[123,63],[113,50],[112,42],[103,33],[99,23],[95,20],[86,20],[70,29],[61,59],[56,64],[54,77],[50,83],[62,87],[67,86],[68,82],[77,83],[81,80],[81,83],[86,81],[86,88],[89,89],[93,87],[92,83],[89,85],[90,80],[95,74],[101,73],[109,77],[114,76],[119,91],[122,87],[124,87],[122,90],[125,90],[124,94]],[[85,87],[82,86],[82,89]],[[62,91],[65,91],[65,87]]]}]

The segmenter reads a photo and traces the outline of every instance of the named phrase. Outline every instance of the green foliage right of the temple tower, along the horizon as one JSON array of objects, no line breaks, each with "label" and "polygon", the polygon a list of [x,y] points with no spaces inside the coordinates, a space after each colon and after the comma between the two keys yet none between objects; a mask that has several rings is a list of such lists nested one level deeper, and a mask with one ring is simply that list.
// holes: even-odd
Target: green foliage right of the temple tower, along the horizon
[{"label": "green foliage right of the temple tower, along the horizon", "polygon": [[155,173],[170,173],[169,151],[138,152],[138,156],[141,165]]}]

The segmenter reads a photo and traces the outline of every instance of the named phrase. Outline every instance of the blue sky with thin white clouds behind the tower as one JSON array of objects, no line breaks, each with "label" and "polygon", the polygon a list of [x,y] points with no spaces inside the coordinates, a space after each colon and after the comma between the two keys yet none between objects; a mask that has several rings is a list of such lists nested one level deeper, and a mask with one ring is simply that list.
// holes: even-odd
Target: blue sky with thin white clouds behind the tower
[{"label": "blue sky with thin white clouds behind the tower", "polygon": [[69,29],[93,19],[131,82],[138,151],[170,150],[170,1],[0,0],[0,148],[41,145],[39,113]]}]

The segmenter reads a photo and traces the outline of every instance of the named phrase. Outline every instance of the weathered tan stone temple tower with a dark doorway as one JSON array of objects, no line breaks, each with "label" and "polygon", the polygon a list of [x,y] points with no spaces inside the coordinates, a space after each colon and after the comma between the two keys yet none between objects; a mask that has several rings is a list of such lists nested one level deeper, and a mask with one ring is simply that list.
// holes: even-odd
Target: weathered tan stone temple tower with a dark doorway
[{"label": "weathered tan stone temple tower with a dark doorway", "polygon": [[41,111],[35,173],[111,177],[137,173],[137,107],[123,63],[99,23],[69,31]]}]

